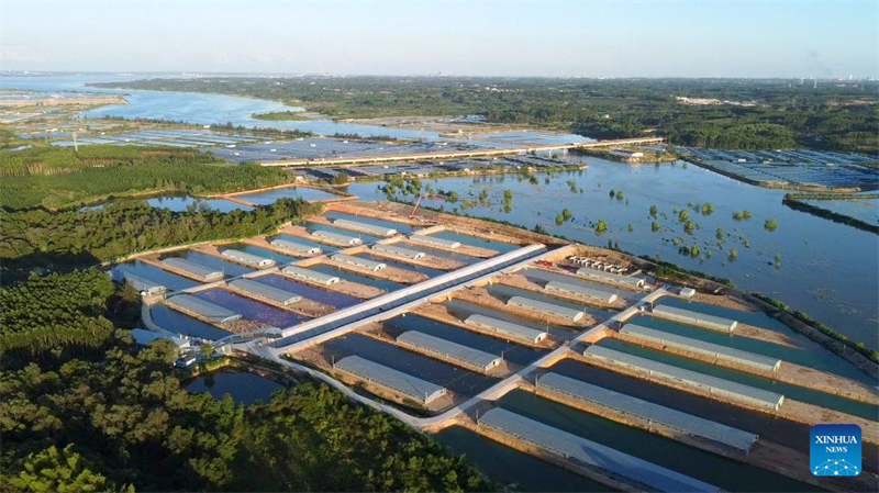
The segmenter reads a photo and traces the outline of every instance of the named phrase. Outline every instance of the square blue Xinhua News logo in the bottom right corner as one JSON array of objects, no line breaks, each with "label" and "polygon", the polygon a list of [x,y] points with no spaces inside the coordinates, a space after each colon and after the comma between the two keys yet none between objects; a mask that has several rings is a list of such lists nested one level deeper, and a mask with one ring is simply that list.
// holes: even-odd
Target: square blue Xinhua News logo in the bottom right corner
[{"label": "square blue Xinhua News logo in the bottom right corner", "polygon": [[814,475],[860,474],[860,426],[812,427],[809,462]]}]

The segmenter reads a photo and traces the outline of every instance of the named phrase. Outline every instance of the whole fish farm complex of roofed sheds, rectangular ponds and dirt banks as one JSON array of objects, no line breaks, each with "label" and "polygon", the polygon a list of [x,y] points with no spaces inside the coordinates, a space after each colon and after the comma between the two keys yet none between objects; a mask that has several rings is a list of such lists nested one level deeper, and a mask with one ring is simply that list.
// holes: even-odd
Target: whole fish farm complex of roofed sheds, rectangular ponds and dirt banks
[{"label": "whole fish farm complex of roofed sheds, rectangular ponds and dirt banks", "polygon": [[[330,198],[274,234],[142,254],[111,273],[142,292],[154,333],[311,376],[422,432],[463,428],[609,489],[723,488],[537,419],[516,399],[743,474],[876,491],[879,394],[856,368],[871,367],[752,294],[670,283],[655,267],[499,223]],[[817,423],[861,427],[866,473],[831,481],[798,466],[809,444],[789,438]]]}]

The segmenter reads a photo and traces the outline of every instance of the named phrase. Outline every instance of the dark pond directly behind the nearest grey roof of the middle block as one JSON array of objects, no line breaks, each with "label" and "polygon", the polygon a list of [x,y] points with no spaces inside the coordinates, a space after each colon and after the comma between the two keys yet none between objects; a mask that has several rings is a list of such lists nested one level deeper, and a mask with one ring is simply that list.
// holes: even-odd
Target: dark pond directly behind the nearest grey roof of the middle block
[{"label": "dark pond directly behind the nearest grey roof of the middle block", "polygon": [[334,357],[336,360],[351,355],[361,356],[379,365],[467,395],[475,395],[497,382],[489,377],[360,334],[349,334],[331,339],[322,347],[331,358]]}]

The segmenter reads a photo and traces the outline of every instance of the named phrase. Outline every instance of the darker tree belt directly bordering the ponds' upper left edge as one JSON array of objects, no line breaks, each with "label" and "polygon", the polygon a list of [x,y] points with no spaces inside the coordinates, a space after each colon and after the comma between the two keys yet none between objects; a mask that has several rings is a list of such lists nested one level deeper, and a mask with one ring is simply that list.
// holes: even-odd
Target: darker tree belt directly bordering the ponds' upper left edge
[{"label": "darker tree belt directly bordering the ponds' upper left edge", "polygon": [[230,213],[173,212],[143,201],[123,201],[89,212],[4,211],[0,215],[2,273],[16,277],[33,268],[70,269],[153,248],[254,236],[288,221],[298,222],[320,208],[282,199],[253,211]]}]

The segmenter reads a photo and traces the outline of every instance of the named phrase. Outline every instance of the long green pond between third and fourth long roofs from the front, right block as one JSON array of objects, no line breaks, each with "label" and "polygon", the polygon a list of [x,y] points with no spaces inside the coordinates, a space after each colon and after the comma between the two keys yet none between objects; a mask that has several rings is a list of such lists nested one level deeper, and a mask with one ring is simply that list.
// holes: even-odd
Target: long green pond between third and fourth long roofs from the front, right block
[{"label": "long green pond between third and fourth long roofs from the front, right block", "polygon": [[853,401],[850,399],[839,397],[837,395],[832,395],[816,390],[806,389],[804,386],[768,380],[763,377],[745,373],[743,371],[736,371],[727,368],[717,367],[715,365],[704,363],[702,361],[697,361],[694,359],[670,355],[668,352],[657,351],[634,344],[624,343],[617,339],[604,338],[599,340],[597,345],[607,347],[609,349],[615,349],[617,351],[627,352],[630,355],[652,359],[654,361],[672,365],[675,367],[698,371],[699,373],[717,377],[733,382],[744,383],[745,385],[755,386],[757,389],[764,389],[771,392],[777,392],[783,394],[786,399],[793,399],[795,401],[815,404],[821,407],[827,407],[830,410],[836,410],[843,413],[853,414],[855,416],[860,416],[866,419],[879,421],[879,407],[877,407],[875,404]]}]

